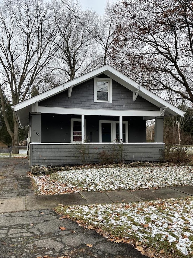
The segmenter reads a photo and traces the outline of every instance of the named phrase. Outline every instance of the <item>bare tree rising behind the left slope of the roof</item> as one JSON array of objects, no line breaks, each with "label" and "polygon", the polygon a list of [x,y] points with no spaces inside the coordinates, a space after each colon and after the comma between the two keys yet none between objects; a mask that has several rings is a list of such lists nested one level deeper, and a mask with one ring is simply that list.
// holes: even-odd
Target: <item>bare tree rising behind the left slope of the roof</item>
[{"label": "bare tree rising behind the left slope of the roof", "polygon": [[[76,0],[56,0],[52,8],[58,30],[55,44],[59,48],[54,73],[60,77],[58,82],[61,83],[61,80],[72,80],[92,67],[89,61],[96,52],[92,34],[96,14],[90,10],[83,11]],[[53,81],[52,75],[49,79]]]}]

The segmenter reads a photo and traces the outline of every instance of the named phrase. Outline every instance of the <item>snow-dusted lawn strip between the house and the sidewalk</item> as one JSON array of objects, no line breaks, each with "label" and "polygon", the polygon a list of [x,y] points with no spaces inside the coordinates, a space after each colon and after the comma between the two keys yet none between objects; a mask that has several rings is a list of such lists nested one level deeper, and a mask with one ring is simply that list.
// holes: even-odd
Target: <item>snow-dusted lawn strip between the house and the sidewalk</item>
[{"label": "snow-dusted lawn strip between the house and the sidewalk", "polygon": [[193,184],[192,166],[87,168],[33,177],[38,194],[112,191]]}]

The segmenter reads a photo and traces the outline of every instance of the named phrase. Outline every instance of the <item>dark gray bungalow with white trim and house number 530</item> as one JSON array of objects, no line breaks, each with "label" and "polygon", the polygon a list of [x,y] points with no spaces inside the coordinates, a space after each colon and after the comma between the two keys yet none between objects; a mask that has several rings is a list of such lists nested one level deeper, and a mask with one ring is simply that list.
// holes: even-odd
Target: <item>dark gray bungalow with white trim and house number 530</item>
[{"label": "dark gray bungalow with white trim and house number 530", "polygon": [[[184,112],[106,64],[13,107],[29,125],[30,165],[163,160],[163,118]],[[155,142],[146,121],[155,119]]]}]

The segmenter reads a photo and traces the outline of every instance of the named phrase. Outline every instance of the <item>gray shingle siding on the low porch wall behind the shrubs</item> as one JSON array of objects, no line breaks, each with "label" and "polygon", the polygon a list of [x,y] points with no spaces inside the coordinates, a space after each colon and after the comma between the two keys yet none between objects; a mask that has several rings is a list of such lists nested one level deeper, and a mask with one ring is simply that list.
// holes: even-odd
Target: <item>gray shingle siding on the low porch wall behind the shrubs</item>
[{"label": "gray shingle siding on the low porch wall behind the shrubs", "polygon": [[[86,161],[90,163],[99,162],[98,153],[105,148],[111,151],[118,146],[113,144],[85,144],[89,149]],[[122,144],[125,152],[125,161],[162,161],[164,144]],[[30,165],[65,165],[84,163],[80,157],[80,144],[30,144]]]}]

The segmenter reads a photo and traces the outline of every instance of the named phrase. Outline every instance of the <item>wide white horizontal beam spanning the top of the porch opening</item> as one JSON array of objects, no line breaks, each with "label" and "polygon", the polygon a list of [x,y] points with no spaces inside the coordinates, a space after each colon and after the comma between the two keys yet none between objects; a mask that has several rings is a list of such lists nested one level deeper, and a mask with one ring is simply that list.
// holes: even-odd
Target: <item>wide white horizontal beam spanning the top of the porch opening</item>
[{"label": "wide white horizontal beam spanning the top of the porch opening", "polygon": [[94,116],[160,116],[160,111],[147,110],[113,110],[113,109],[81,109],[38,106],[38,113]]}]

